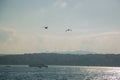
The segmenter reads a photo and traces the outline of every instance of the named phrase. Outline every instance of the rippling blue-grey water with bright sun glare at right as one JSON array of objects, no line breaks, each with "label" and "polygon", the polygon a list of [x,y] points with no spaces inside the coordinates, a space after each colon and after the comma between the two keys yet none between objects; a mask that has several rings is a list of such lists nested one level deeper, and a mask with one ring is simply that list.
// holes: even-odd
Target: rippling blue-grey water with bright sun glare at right
[{"label": "rippling blue-grey water with bright sun glare at right", "polygon": [[0,80],[120,80],[118,67],[0,66]]}]

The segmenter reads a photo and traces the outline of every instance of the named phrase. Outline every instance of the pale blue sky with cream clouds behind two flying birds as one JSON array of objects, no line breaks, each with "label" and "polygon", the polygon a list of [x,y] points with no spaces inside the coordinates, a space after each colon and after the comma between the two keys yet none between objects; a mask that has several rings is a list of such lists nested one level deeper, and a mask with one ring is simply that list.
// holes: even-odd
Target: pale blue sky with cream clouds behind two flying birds
[{"label": "pale blue sky with cream clouds behind two flying birds", "polygon": [[61,51],[120,54],[120,1],[0,0],[0,54]]}]

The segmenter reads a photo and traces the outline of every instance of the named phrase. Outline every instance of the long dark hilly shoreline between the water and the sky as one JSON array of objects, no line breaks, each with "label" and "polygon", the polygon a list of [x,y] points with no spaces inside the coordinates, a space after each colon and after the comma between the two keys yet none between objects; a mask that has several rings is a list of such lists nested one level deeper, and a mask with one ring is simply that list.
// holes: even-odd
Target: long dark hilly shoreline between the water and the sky
[{"label": "long dark hilly shoreline between the water and the sky", "polygon": [[34,53],[0,56],[0,65],[120,66],[120,54]]}]

